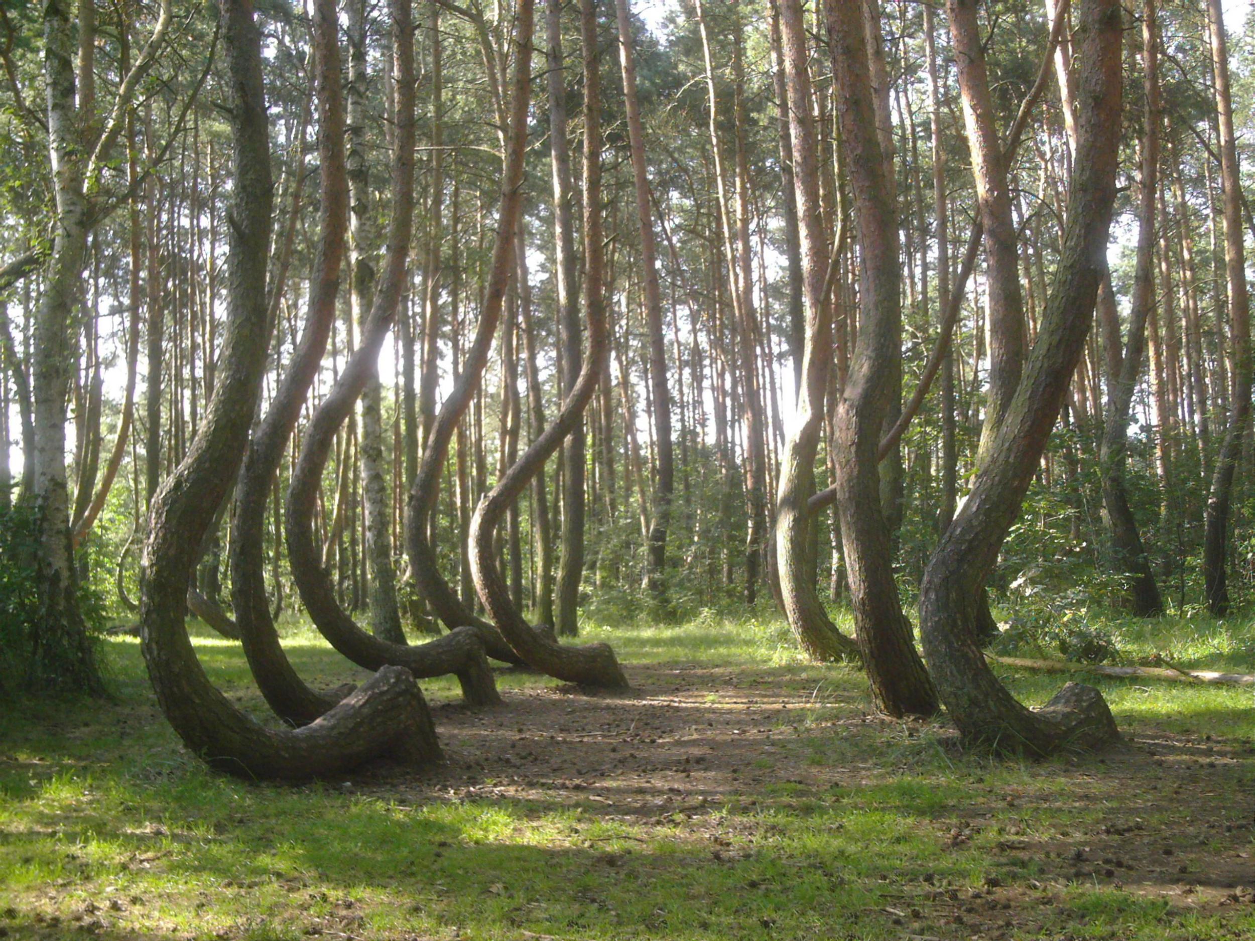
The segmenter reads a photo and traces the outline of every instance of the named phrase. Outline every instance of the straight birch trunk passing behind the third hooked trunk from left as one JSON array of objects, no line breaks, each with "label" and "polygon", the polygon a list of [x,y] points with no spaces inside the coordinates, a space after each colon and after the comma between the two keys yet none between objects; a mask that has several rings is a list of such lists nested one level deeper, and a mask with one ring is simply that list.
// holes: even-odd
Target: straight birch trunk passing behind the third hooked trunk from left
[{"label": "straight birch trunk passing behind the third hooked trunk from left", "polygon": [[[432,4],[432,9],[439,9]],[[370,312],[375,280],[375,240],[371,231],[370,164],[366,158],[366,4],[348,4],[349,39],[349,277],[353,319],[360,329]],[[397,606],[397,577],[392,560],[392,513],[384,481],[383,389],[378,368],[361,393],[361,493],[365,509],[366,567],[370,583],[370,629],[393,644],[404,644]]]}]

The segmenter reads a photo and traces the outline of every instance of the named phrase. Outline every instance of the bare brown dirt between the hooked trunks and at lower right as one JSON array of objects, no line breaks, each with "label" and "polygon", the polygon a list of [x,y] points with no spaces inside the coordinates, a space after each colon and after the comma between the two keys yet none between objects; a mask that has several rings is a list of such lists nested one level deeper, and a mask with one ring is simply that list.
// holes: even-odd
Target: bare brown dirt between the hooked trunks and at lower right
[{"label": "bare brown dirt between the hooked trunks and at lower right", "polygon": [[[841,709],[840,699],[830,700],[837,708],[823,709],[806,691],[782,691],[769,671],[663,665],[631,667],[629,675],[634,693],[628,696],[527,689],[508,694],[505,715],[437,706],[447,764],[418,784],[384,774],[361,785],[394,795],[400,789],[419,802],[566,803],[645,833],[684,819],[686,833],[705,843],[718,864],[745,852],[729,848],[733,836],[747,836],[729,832],[719,813],[729,802],[740,809],[822,802],[884,783],[885,762],[875,750],[853,763],[816,764],[803,760],[806,742],[937,734],[940,748],[961,760],[944,725],[904,726],[860,709],[841,716],[851,710]],[[1255,792],[1242,783],[1252,767],[1249,743],[1135,729],[1124,745],[1103,755],[1033,765],[1062,787],[1072,807],[1101,808],[1096,826],[1045,836],[1034,832],[1040,828],[1033,821],[1059,809],[1060,787],[1043,793],[975,783],[968,803],[921,817],[920,826],[955,849],[996,837],[988,847],[991,859],[1009,862],[1012,872],[1032,863],[1035,876],[991,877],[979,888],[960,890],[925,872],[902,885],[900,906],[885,911],[906,926],[948,926],[946,936],[954,937],[1005,938],[1027,923],[1054,936],[1067,918],[1052,910],[1064,888],[1079,882],[1162,900],[1177,920],[1246,915],[1255,906]],[[788,798],[778,785],[789,785]],[[1015,809],[1023,826],[1005,822]],[[738,819],[742,831],[753,831]]]}]

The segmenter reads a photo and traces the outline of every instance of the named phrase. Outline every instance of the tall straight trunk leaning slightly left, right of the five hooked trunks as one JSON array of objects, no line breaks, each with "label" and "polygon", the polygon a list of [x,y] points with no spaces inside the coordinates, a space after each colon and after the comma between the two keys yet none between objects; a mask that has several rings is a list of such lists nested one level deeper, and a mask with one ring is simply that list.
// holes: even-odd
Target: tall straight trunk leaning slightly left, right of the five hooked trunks
[{"label": "tall straight trunk leaning slightly left, right of the five hooked trunks", "polygon": [[645,134],[636,97],[636,65],[633,61],[631,10],[629,0],[615,0],[619,23],[619,61],[624,77],[624,107],[628,112],[628,141],[633,181],[636,188],[636,217],[640,228],[640,262],[645,290],[645,332],[649,339],[649,380],[654,398],[655,478],[649,529],[646,582],[654,598],[666,597],[666,528],[671,517],[675,467],[671,458],[671,394],[666,381],[666,341],[663,334],[663,292],[658,284],[658,250],[654,238],[649,177],[645,168]]}]

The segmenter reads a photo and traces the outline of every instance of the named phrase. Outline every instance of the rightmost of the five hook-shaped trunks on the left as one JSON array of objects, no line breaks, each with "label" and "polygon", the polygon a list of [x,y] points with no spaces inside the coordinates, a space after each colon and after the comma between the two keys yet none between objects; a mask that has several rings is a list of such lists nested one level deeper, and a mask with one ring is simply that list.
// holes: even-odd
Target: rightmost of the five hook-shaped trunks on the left
[{"label": "rightmost of the five hook-shaped trunks on the left", "polygon": [[[584,409],[592,400],[601,380],[601,364],[609,353],[604,311],[602,245],[601,245],[601,90],[597,73],[596,16],[592,0],[581,0],[581,29],[585,46],[585,143],[584,143],[584,238],[585,238],[585,305],[587,311],[589,355],[575,381],[575,388],[562,403],[553,424],[546,428],[523,455],[502,474],[479,501],[471,517],[471,576],[476,591],[492,620],[518,655],[537,670],[569,683],[585,686],[624,689],[624,676],[614,651],[606,644],[567,647],[533,630],[510,600],[510,588],[497,568],[492,540],[501,517],[518,499],[528,482],[545,468],[545,462],[582,420]],[[531,0],[518,4],[520,34],[527,36],[531,25]],[[530,68],[530,53],[520,50],[518,74]],[[523,99],[526,85],[517,87],[516,108]],[[516,112],[517,115],[517,112]],[[522,247],[522,246],[520,246]]]}]

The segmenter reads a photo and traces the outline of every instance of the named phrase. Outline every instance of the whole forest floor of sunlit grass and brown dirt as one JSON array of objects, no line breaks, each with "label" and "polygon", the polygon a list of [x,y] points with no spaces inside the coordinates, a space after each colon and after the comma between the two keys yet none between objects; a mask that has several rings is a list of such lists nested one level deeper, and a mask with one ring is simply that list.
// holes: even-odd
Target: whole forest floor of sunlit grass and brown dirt
[{"label": "whole forest floor of sunlit grass and brown dirt", "polygon": [[[1199,666],[1251,636],[1163,631]],[[446,763],[307,787],[207,772],[110,640],[112,701],[0,716],[0,937],[1255,937],[1250,689],[1102,681],[1123,747],[995,760],[873,715],[774,620],[589,636],[630,694],[502,670],[473,711],[424,683]],[[238,649],[197,647],[260,715]],[[364,675],[287,647],[315,685]],[[1039,704],[1067,678],[1007,679]]]}]

